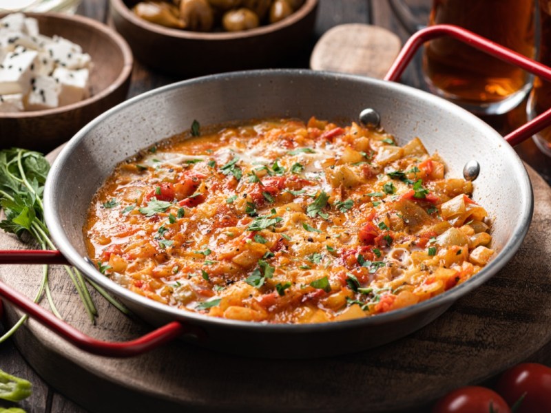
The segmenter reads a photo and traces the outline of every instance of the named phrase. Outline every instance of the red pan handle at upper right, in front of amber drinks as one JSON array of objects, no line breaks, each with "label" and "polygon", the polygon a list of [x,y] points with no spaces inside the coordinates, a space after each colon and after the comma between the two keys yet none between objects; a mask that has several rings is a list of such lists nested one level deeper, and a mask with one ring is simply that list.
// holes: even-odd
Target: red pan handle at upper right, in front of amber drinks
[{"label": "red pan handle at upper right, in front of amber drinks", "polygon": [[[442,36],[451,36],[454,39],[467,43],[472,47],[475,47],[478,50],[491,54],[492,56],[497,57],[502,61],[511,63],[521,67],[524,70],[527,70],[530,73],[536,74],[541,78],[544,78],[546,81],[551,81],[551,68],[528,57],[523,56],[520,53],[513,52],[507,47],[503,47],[493,41],[489,41],[484,37],[479,36],[469,30],[460,28],[456,25],[441,24],[433,25],[428,28],[419,30],[410,37],[406,42],[402,51],[399,53],[398,57],[394,61],[390,70],[386,76],[384,76],[385,81],[398,81],[404,69],[411,61],[419,46],[421,46],[426,41],[437,39]],[[537,132],[545,129],[551,125],[551,109],[543,112],[543,114],[537,116],[536,118],[530,120],[530,122],[519,127],[518,129],[512,131],[510,134],[505,136],[505,140],[514,146],[530,138],[530,136],[537,134]]]}]

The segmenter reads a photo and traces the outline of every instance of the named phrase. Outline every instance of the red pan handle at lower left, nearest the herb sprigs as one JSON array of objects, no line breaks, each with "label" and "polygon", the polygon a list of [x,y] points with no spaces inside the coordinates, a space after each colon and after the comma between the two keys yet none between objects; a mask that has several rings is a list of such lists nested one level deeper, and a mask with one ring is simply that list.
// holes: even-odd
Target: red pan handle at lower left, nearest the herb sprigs
[{"label": "red pan handle at lower left, nearest the herb sprigs", "polygon": [[[20,251],[0,251],[0,264],[69,264],[65,257],[59,251],[43,250],[20,250]],[[205,332],[194,326],[181,324],[179,321],[172,321],[163,327],[126,342],[101,341],[85,335],[83,332],[61,321],[52,313],[45,310],[32,300],[28,299],[13,288],[10,288],[3,282],[0,282],[0,297],[7,299],[14,306],[23,310],[30,317],[37,319],[43,326],[92,354],[98,354],[108,357],[132,357],[144,352],[148,352],[168,341],[176,339],[183,334],[195,335],[203,338]]]}]

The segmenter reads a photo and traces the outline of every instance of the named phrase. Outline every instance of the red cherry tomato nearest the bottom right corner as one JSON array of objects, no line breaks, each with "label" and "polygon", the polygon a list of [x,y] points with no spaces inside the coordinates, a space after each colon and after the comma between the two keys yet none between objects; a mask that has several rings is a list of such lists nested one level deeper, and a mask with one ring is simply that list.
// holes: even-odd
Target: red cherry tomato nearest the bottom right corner
[{"label": "red cherry tomato nearest the bottom right corner", "polygon": [[522,363],[501,374],[497,392],[510,405],[523,401],[515,413],[551,412],[551,368],[537,363]]}]

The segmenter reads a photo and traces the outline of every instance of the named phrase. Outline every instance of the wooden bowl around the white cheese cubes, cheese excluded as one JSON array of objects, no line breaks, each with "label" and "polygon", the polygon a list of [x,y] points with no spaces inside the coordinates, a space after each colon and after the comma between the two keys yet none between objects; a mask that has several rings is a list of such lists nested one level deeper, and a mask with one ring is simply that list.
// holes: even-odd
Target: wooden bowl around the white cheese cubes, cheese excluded
[{"label": "wooden bowl around the white cheese cubes, cheese excluded", "polygon": [[39,21],[41,34],[62,36],[81,45],[83,52],[92,57],[90,98],[55,109],[0,113],[0,147],[45,152],[125,100],[132,74],[132,52],[118,33],[98,21],[55,13],[25,15]]}]

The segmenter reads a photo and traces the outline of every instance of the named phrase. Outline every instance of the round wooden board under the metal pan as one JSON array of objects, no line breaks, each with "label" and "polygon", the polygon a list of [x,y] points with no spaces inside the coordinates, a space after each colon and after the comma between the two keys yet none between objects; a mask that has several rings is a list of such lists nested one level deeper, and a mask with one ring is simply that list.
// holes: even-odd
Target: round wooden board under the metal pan
[{"label": "round wooden board under the metal pan", "polygon": [[[534,218],[514,259],[436,321],[381,348],[274,361],[174,342],[110,359],[86,354],[34,321],[17,331],[15,343],[45,381],[90,412],[427,412],[426,403],[453,388],[486,381],[520,361],[550,361],[551,188],[528,171]],[[4,233],[0,240],[3,248],[25,247]],[[0,268],[1,279],[29,297],[40,275],[41,266]],[[120,341],[150,329],[97,294],[94,326],[63,270],[52,268],[50,279],[61,314],[83,332]],[[8,307],[7,315],[13,324],[20,314]]]}]

